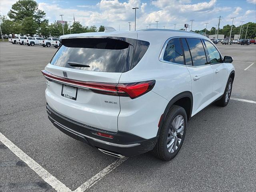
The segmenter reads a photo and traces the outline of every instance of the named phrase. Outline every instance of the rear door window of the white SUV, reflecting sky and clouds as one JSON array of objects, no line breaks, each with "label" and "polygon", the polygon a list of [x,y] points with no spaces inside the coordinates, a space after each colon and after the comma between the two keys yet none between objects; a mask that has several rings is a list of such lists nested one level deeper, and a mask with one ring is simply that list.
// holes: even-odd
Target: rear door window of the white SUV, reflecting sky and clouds
[{"label": "rear door window of the white SUV, reflecting sky and clouds", "polygon": [[186,38],[190,48],[193,65],[202,66],[207,64],[204,47],[200,39]]}]

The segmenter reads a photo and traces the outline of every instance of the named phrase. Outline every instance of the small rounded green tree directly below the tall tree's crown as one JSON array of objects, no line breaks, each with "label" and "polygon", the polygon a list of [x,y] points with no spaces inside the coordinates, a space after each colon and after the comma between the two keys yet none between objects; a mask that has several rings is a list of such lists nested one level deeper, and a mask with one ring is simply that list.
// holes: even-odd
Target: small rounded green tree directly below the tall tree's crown
[{"label": "small rounded green tree directly below the tall tree's crown", "polygon": [[34,21],[33,17],[26,17],[22,20],[22,32],[25,35],[33,36],[38,30],[38,24]]}]

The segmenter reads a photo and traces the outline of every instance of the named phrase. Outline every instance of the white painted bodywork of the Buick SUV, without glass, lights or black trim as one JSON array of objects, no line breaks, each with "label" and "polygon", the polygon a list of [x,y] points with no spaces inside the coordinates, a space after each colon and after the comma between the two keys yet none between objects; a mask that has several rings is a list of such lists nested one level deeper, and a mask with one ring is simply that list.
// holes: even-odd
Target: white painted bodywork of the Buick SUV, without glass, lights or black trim
[{"label": "white painted bodywork of the Buick SUV, without glass, lights or black trim", "polygon": [[[208,106],[224,93],[232,64],[212,64],[200,67],[179,65],[159,60],[160,52],[171,37],[208,38],[192,32],[169,30],[142,30],[136,32],[95,32],[69,34],[61,38],[82,37],[125,37],[150,42],[147,52],[140,62],[124,73],[94,72],[64,68],[48,64],[46,71],[63,77],[81,81],[129,83],[156,80],[154,88],[135,99],[130,97],[96,94],[78,88],[77,100],[61,96],[62,85],[48,82],[46,100],[58,113],[89,126],[113,132],[128,132],[145,139],[153,138],[158,132],[158,122],[166,106],[174,96],[182,92],[192,92],[192,116]],[[157,38],[156,38],[157,37]],[[53,44],[52,44],[53,45]],[[220,72],[215,73],[216,70]],[[193,80],[195,76],[200,79]],[[117,102],[112,105],[104,101]]]}]

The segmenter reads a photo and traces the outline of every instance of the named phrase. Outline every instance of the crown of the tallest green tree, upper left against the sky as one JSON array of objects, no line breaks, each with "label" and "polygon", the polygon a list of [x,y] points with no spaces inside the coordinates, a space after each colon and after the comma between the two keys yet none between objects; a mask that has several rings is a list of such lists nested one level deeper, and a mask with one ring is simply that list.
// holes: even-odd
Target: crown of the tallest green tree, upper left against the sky
[{"label": "crown of the tallest green tree, upper left against the sky", "polygon": [[44,20],[45,12],[38,10],[38,4],[34,0],[18,0],[12,5],[7,15],[15,22],[32,17],[36,23],[40,24]]}]

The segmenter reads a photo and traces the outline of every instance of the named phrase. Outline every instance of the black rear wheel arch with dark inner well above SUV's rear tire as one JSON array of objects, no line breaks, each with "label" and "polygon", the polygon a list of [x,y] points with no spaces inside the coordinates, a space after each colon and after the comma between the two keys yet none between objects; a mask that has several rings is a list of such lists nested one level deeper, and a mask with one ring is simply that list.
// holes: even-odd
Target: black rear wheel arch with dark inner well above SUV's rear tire
[{"label": "black rear wheel arch with dark inner well above SUV's rear tire", "polygon": [[158,124],[158,132],[159,136],[160,130],[162,128],[163,122],[166,119],[168,112],[172,105],[178,105],[185,109],[188,120],[191,118],[192,108],[193,108],[193,95],[190,91],[181,92],[178,95],[174,96],[169,103],[167,104],[164,113],[162,114],[159,124]]}]

